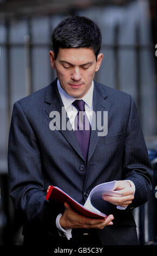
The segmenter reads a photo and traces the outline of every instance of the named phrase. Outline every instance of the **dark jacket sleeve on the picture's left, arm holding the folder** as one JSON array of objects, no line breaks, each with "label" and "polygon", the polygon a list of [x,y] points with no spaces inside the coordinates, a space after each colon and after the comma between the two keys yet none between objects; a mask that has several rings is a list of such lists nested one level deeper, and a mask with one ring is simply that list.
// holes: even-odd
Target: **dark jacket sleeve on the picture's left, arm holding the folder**
[{"label": "dark jacket sleeve on the picture's left, arm holding the folder", "polygon": [[45,200],[43,170],[38,141],[19,104],[12,112],[8,170],[10,196],[15,209],[21,210],[28,221],[37,221],[49,229],[55,227],[56,216],[61,212]]}]

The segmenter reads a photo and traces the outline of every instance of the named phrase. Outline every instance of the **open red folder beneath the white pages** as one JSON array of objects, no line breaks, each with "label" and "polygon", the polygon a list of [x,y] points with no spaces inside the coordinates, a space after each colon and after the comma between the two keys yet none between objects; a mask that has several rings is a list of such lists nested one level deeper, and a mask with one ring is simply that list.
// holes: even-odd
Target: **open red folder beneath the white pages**
[{"label": "open red folder beneath the white pages", "polygon": [[50,186],[50,189],[47,193],[47,196],[45,197],[46,200],[49,200],[51,202],[61,203],[68,202],[71,206],[71,208],[74,209],[78,214],[84,215],[86,217],[90,218],[103,218],[105,219],[107,217],[106,214],[103,214],[102,212],[100,214],[88,210],[85,208],[82,204],[78,203],[76,200],[71,198],[67,193],[65,193],[63,190],[61,190],[58,187]]}]

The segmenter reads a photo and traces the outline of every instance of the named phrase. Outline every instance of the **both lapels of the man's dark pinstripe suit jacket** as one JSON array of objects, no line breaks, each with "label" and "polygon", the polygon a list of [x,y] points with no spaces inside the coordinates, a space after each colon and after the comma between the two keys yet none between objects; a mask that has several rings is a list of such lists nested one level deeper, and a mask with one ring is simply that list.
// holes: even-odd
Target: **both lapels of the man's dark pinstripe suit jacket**
[{"label": "both lapels of the man's dark pinstripe suit jacket", "polygon": [[[94,92],[93,92],[93,111],[97,113],[97,111],[108,111],[108,106],[107,102],[104,100],[106,99],[107,95],[101,95],[101,92],[96,86],[96,83],[94,84]],[[50,117],[50,113],[52,111],[57,111],[60,115],[60,124],[56,124],[56,128],[62,133],[64,138],[67,139],[71,147],[74,148],[74,150],[77,152],[78,155],[84,160],[80,145],[78,144],[77,138],[75,136],[75,133],[71,127],[71,130],[65,129],[63,130],[62,127],[66,127],[67,122],[70,124],[69,118],[67,117],[66,114],[66,119],[62,118],[62,113],[63,113],[63,102],[61,100],[61,96],[58,93],[57,89],[57,78],[56,80],[50,84],[50,86],[47,89],[47,92],[45,93],[45,99],[44,99],[45,104],[45,112],[47,115]],[[64,109],[64,112],[66,110]],[[51,119],[51,118],[50,118]],[[54,119],[55,120],[55,119]],[[51,120],[53,121],[53,120]],[[95,119],[95,122],[97,123],[97,118]],[[102,120],[103,122],[103,120]],[[55,123],[55,121],[54,121]],[[60,126],[60,127],[59,127]],[[98,132],[100,132],[97,129],[97,125],[95,125],[93,129],[93,123],[92,123],[92,129],[91,129],[91,135],[90,135],[90,142],[89,142],[89,150],[88,150],[88,161],[90,160],[91,156],[94,153],[94,150],[97,146],[97,143],[99,142],[100,136],[97,136]]]}]

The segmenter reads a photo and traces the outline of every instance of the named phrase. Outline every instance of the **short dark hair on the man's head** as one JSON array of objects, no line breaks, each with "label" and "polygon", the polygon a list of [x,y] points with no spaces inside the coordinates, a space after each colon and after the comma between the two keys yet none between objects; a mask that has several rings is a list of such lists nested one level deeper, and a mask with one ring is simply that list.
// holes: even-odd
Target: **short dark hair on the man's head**
[{"label": "short dark hair on the man's head", "polygon": [[102,36],[96,23],[84,16],[68,16],[54,29],[53,50],[55,59],[59,48],[91,48],[96,56],[100,52]]}]

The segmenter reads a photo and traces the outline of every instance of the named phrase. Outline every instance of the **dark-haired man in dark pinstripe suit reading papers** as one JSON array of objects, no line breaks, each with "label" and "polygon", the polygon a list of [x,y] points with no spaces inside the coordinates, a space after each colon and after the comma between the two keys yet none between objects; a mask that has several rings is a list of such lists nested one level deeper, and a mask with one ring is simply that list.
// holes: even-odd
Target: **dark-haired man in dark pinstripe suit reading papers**
[{"label": "dark-haired man in dark pinstripe suit reading papers", "polygon": [[[138,244],[131,209],[148,200],[151,166],[132,96],[94,81],[103,59],[100,47],[93,21],[67,17],[53,33],[56,80],[14,105],[10,196],[23,215],[25,245]],[[45,200],[54,185],[84,204],[94,186],[113,180],[123,196],[93,202],[106,220]]]}]

